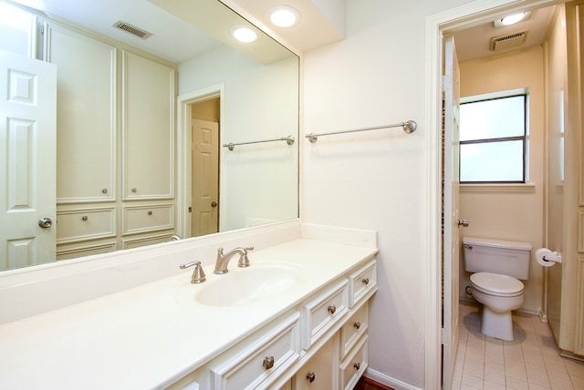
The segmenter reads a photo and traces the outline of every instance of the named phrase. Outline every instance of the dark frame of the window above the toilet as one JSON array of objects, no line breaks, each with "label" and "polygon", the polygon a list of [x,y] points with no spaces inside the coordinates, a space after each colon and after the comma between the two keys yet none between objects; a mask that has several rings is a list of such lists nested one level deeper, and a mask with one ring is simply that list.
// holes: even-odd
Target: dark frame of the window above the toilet
[{"label": "dark frame of the window above the toilet", "polygon": [[[470,104],[470,103],[479,103],[479,102],[484,102],[484,101],[491,101],[491,100],[499,100],[499,99],[504,99],[504,98],[510,98],[510,97],[524,97],[523,99],[523,136],[511,136],[511,137],[498,137],[498,138],[493,138],[493,139],[470,139],[470,140],[459,140],[458,142],[458,152],[459,152],[459,156],[462,156],[461,154],[461,146],[462,145],[472,145],[472,144],[488,144],[488,143],[495,143],[495,142],[505,142],[505,141],[522,141],[523,143],[523,156],[522,156],[522,161],[523,161],[523,167],[522,167],[522,180],[472,180],[472,181],[468,181],[468,180],[460,180],[459,183],[462,185],[506,185],[506,184],[527,184],[528,183],[528,178],[527,178],[527,172],[528,172],[528,139],[529,139],[529,125],[528,125],[528,108],[529,108],[529,91],[527,88],[520,88],[520,89],[514,89],[514,90],[506,90],[506,91],[500,91],[500,92],[495,92],[492,94],[485,94],[485,95],[477,95],[477,96],[471,96],[471,97],[461,97],[460,100],[460,106],[463,106],[464,104]],[[458,177],[461,178],[461,172],[462,172],[462,158],[459,157],[459,164],[458,164]]]}]

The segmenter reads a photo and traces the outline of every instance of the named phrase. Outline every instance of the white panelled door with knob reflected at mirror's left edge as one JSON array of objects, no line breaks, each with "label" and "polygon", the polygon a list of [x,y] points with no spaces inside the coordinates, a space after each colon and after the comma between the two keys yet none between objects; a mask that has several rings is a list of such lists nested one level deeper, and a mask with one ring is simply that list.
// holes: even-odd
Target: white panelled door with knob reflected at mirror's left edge
[{"label": "white panelled door with knob reflected at mirror's left edge", "polygon": [[0,50],[0,93],[5,270],[56,258],[57,67]]}]

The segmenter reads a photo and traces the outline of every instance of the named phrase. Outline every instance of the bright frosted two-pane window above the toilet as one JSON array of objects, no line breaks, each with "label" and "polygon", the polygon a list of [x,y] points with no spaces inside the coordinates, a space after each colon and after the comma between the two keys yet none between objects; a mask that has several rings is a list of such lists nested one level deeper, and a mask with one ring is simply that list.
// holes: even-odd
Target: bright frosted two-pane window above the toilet
[{"label": "bright frosted two-pane window above the toilet", "polygon": [[525,183],[526,167],[526,93],[461,103],[461,183]]}]

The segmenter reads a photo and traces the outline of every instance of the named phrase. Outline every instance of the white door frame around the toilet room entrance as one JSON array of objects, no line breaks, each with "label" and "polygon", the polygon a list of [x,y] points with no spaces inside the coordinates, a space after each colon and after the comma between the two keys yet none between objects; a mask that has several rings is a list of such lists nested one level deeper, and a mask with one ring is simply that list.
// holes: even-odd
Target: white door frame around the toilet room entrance
[{"label": "white door frame around the toilet room entrance", "polygon": [[[425,133],[427,145],[427,273],[424,388],[442,388],[442,64],[443,36],[497,16],[526,8],[565,3],[564,0],[478,0],[426,17]],[[450,183],[444,183],[445,186]],[[449,247],[444,242],[445,247]],[[445,281],[446,282],[446,281]]]}]

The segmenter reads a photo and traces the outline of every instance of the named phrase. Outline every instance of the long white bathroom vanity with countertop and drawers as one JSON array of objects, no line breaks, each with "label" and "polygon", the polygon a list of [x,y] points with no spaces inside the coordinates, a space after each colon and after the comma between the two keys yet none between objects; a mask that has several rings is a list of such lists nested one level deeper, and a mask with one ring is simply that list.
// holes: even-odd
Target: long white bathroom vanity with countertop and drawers
[{"label": "long white bathroom vanity with countertop and drawers", "polygon": [[[4,323],[0,387],[352,388],[368,364],[377,249],[345,240],[346,233],[333,240],[335,234],[293,235],[271,246],[247,242],[255,245],[251,266],[232,261],[226,274],[213,273],[214,258],[191,259],[202,261],[203,283],[191,283],[191,270],[184,270]],[[166,255],[155,268],[178,270],[192,253],[216,251],[213,240],[183,257]],[[225,240],[225,249],[232,242]],[[117,271],[137,264],[119,264]],[[10,297],[52,297],[9,290],[0,284],[3,307]]]}]

